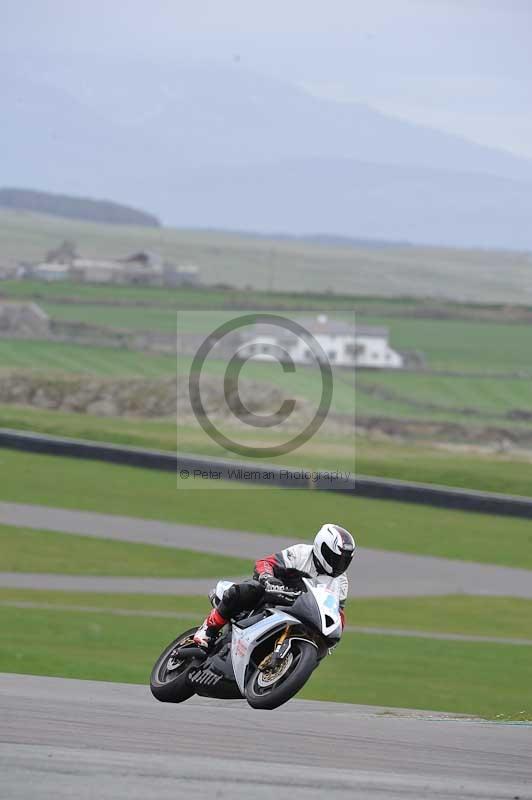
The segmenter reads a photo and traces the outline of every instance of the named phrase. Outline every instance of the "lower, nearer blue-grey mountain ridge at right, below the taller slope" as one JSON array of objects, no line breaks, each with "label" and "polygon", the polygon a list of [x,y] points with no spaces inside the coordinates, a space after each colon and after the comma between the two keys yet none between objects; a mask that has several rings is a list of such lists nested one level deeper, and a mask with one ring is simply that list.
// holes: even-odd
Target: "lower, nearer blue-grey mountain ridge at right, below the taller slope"
[{"label": "lower, nearer blue-grey mountain ridge at right, below the taller slope", "polygon": [[[435,187],[437,187],[435,189]],[[350,160],[183,170],[161,204],[185,227],[532,247],[532,190],[508,178]]]}]

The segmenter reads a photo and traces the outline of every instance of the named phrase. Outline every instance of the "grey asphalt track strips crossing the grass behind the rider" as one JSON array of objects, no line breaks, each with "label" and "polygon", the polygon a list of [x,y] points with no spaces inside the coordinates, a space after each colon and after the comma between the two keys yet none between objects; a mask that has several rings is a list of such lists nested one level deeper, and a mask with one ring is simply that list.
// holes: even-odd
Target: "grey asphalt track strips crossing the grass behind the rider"
[{"label": "grey asphalt track strips crossing the grass behind the rider", "polygon": [[[145,542],[254,561],[293,543],[282,536],[156,520],[0,503],[0,523],[129,542]],[[250,564],[251,571],[251,564]],[[221,576],[222,577],[222,576]],[[223,576],[238,577],[238,576]],[[212,579],[119,578],[0,573],[0,586],[144,594],[204,594]],[[352,597],[508,595],[532,598],[532,571],[359,548],[350,570]]]}]

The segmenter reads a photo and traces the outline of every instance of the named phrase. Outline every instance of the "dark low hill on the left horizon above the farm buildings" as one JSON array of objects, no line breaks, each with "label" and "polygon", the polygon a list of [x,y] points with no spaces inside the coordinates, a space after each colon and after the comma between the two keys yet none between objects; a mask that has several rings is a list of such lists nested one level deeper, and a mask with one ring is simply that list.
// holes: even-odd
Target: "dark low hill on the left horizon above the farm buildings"
[{"label": "dark low hill on the left horizon above the farm buildings", "polygon": [[0,207],[87,222],[105,222],[110,225],[144,225],[150,228],[160,226],[159,220],[152,214],[112,203],[110,200],[91,200],[88,197],[71,197],[30,189],[0,189]]}]

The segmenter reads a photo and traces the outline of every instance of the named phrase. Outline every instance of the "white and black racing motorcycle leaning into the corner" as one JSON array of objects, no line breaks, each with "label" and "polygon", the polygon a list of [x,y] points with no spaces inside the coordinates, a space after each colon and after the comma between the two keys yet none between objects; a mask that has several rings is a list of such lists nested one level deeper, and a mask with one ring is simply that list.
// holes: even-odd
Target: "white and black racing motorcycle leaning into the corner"
[{"label": "white and black racing motorcycle leaning into the corner", "polygon": [[[150,688],[163,703],[194,694],[245,698],[253,708],[273,709],[294,697],[342,635],[338,597],[303,578],[302,588],[266,592],[253,611],[222,629],[211,650],[194,645],[196,628],[178,636],[153,667]],[[217,606],[231,581],[210,593]]]}]

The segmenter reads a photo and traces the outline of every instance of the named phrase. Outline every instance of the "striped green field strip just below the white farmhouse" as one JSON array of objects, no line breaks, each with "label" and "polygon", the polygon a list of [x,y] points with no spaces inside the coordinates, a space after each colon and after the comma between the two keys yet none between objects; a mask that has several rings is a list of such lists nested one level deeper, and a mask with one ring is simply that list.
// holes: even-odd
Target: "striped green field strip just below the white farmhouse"
[{"label": "striped green field strip just below the white farmhouse", "polygon": [[[191,359],[180,357],[178,373],[188,374]],[[219,376],[225,363],[208,360],[205,373]],[[101,377],[169,377],[176,374],[173,356],[33,340],[0,340],[0,369],[38,370],[47,374]],[[321,395],[319,373],[299,369],[284,374],[277,364],[248,362],[242,378],[279,387],[316,407]],[[355,388],[354,388],[355,386]],[[532,379],[439,376],[359,371],[355,376],[334,371],[332,411],[365,417],[452,422],[468,427],[499,426],[532,431],[516,419],[532,409]]]}]

